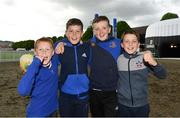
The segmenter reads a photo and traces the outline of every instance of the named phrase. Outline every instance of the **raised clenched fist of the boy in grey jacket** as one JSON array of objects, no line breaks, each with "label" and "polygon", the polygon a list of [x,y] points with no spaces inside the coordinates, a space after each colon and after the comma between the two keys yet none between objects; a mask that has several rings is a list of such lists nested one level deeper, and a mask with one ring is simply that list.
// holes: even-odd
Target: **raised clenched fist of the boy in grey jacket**
[{"label": "raised clenched fist of the boy in grey jacket", "polygon": [[157,62],[153,58],[153,55],[152,55],[151,51],[149,51],[149,50],[145,51],[143,55],[144,55],[144,61],[145,62],[149,63],[152,66],[156,66],[157,65]]}]

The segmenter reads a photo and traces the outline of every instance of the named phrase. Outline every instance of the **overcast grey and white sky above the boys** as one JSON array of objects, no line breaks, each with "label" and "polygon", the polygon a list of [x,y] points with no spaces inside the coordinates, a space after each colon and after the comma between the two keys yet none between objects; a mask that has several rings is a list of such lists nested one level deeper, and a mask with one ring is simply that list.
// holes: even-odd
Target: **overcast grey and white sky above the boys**
[{"label": "overcast grey and white sky above the boys", "polygon": [[36,40],[63,36],[68,19],[84,23],[95,13],[126,21],[130,27],[152,24],[167,13],[180,16],[180,0],[0,0],[0,40]]}]

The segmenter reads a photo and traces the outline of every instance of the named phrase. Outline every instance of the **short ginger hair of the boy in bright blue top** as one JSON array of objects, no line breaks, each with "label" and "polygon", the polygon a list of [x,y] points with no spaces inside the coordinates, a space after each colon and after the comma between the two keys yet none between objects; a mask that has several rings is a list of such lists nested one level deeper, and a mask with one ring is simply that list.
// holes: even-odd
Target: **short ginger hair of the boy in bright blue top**
[{"label": "short ginger hair of the boy in bright blue top", "polygon": [[42,38],[36,40],[36,42],[34,43],[34,49],[35,49],[35,50],[37,49],[38,44],[39,44],[40,42],[47,42],[47,43],[49,43],[49,44],[52,46],[52,48],[54,47],[54,46],[53,46],[53,41],[52,41],[52,39],[51,39],[50,37],[42,37]]}]

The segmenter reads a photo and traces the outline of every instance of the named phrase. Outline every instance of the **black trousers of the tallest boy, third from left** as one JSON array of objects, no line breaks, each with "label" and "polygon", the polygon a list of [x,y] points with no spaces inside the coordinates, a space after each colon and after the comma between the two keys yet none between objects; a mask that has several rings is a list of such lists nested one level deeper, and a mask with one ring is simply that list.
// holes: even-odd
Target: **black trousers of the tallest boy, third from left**
[{"label": "black trousers of the tallest boy, third from left", "polygon": [[92,117],[117,116],[116,91],[90,91],[90,111]]}]

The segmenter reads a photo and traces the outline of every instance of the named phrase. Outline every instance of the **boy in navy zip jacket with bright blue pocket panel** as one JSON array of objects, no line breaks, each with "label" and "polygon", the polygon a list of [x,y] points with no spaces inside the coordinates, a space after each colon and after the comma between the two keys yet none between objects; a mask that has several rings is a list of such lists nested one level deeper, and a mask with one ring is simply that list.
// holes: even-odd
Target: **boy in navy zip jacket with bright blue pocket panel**
[{"label": "boy in navy zip jacket with bright blue pocket panel", "polygon": [[80,42],[83,34],[83,24],[79,19],[72,18],[66,24],[64,54],[59,55],[61,72],[60,116],[88,116],[89,78],[87,65],[89,46]]}]

